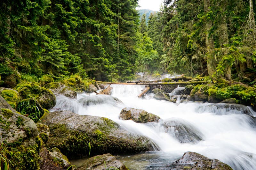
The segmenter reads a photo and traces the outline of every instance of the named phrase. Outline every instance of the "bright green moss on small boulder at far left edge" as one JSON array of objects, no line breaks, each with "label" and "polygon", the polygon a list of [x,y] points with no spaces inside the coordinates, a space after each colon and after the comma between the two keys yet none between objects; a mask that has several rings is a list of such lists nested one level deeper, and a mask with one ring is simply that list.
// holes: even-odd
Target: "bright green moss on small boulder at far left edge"
[{"label": "bright green moss on small boulder at far left edge", "polygon": [[17,103],[19,101],[18,94],[13,90],[3,90],[0,94],[4,100],[9,103],[12,108],[16,109]]}]

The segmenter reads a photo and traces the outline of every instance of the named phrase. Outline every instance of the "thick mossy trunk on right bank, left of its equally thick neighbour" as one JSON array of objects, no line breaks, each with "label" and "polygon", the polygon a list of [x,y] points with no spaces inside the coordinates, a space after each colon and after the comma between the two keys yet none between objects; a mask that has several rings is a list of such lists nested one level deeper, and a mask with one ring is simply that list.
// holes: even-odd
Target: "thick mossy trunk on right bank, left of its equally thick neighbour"
[{"label": "thick mossy trunk on right bank, left of its equally thick neighbour", "polygon": [[[204,0],[204,11],[205,13],[208,13],[210,11],[210,0]],[[205,36],[205,47],[206,47],[206,60],[207,60],[207,69],[208,69],[208,74],[210,78],[212,78],[213,73],[215,72],[215,66],[216,66],[216,60],[213,55],[213,48],[214,48],[214,43],[213,43],[213,38],[212,34],[210,34],[210,30],[212,28],[212,20],[206,18],[206,36]]]}]

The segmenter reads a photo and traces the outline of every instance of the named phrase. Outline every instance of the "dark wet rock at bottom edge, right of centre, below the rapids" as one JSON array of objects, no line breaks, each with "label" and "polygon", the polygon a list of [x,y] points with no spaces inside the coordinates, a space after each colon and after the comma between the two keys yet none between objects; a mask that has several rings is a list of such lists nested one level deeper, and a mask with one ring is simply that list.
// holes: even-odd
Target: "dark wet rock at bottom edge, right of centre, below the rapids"
[{"label": "dark wet rock at bottom edge, right of centre, below the rapids", "polygon": [[218,159],[210,159],[196,152],[185,152],[183,156],[176,161],[177,164],[190,165],[186,166],[191,170],[232,170],[230,166],[220,162]]}]

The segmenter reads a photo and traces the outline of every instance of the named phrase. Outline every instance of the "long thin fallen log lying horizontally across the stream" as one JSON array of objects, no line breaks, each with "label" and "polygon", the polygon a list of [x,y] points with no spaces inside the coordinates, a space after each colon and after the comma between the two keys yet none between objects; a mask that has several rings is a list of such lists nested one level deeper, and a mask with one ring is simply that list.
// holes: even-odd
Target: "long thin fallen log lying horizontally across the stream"
[{"label": "long thin fallen log lying horizontally across the stream", "polygon": [[191,82],[159,82],[159,83],[146,83],[146,82],[139,82],[139,83],[119,83],[119,82],[103,82],[103,81],[95,81],[97,83],[102,84],[112,84],[112,85],[198,85],[198,84],[207,84],[208,81],[191,81]]}]

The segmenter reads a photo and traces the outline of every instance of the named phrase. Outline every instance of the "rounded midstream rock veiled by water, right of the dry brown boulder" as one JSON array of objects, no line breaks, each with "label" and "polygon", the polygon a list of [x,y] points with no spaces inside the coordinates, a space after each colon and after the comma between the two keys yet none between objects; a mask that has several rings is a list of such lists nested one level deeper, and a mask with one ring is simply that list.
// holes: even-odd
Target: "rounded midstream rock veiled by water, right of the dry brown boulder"
[{"label": "rounded midstream rock veiled by water, right of the dry brown boulder", "polygon": [[197,143],[203,140],[203,134],[191,123],[173,118],[163,124],[166,133],[178,139],[180,143]]}]

